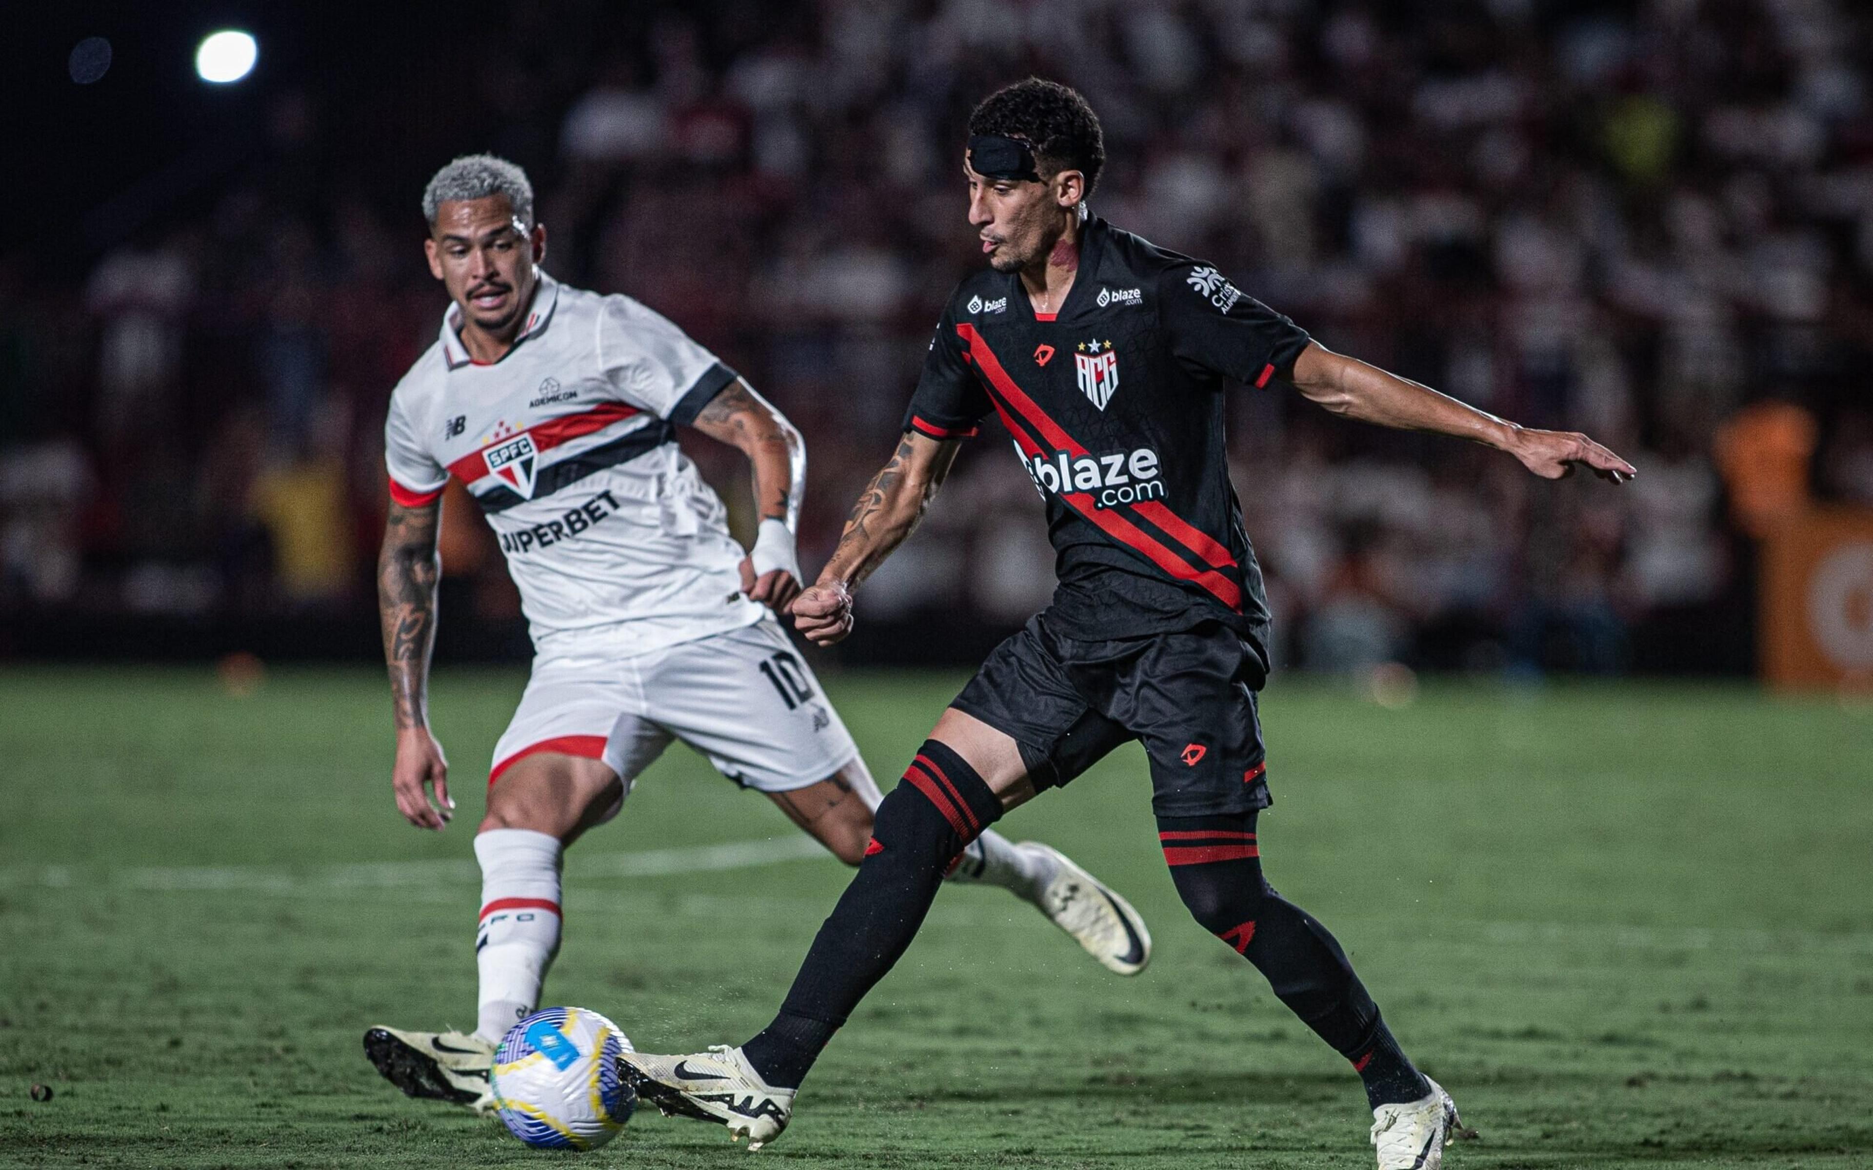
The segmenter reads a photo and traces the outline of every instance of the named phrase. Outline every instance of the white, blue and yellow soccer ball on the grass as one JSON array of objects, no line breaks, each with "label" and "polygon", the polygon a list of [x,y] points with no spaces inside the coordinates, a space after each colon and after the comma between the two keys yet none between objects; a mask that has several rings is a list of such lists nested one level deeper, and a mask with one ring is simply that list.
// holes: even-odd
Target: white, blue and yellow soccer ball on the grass
[{"label": "white, blue and yellow soccer ball on the grass", "polygon": [[620,1052],[633,1052],[631,1041],[596,1011],[536,1011],[494,1052],[487,1086],[500,1119],[528,1146],[603,1146],[637,1110],[637,1091],[618,1076]]}]

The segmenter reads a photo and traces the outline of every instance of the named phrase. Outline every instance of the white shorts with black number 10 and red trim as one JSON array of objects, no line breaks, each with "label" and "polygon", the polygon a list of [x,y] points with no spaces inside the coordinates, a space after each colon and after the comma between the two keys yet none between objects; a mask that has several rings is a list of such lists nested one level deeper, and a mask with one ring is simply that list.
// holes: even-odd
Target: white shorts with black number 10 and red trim
[{"label": "white shorts with black number 10 and red trim", "polygon": [[536,657],[487,782],[553,751],[605,760],[629,792],[671,739],[760,792],[817,784],[858,758],[813,670],[762,618],[631,657]]}]

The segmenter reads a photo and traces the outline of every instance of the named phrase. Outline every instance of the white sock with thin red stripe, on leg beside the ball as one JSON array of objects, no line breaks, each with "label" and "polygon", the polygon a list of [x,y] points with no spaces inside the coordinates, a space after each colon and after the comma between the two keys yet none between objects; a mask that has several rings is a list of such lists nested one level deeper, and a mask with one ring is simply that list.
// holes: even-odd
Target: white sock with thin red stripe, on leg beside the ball
[{"label": "white sock with thin red stripe, on leg beside the ball", "polygon": [[558,837],[532,829],[489,829],[474,839],[481,861],[474,1033],[489,1043],[539,1007],[539,983],[560,949],[560,850]]}]

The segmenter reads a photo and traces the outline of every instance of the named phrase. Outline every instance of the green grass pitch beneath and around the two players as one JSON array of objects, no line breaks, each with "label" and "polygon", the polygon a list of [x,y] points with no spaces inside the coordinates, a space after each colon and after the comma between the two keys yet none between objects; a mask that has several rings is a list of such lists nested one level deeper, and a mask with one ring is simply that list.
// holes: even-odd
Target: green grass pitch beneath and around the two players
[{"label": "green grass pitch beneath and around the two players", "polygon": [[[955,681],[832,680],[886,786]],[[373,1022],[472,1026],[470,837],[521,683],[438,678],[461,809],[429,835],[391,805],[375,674],[249,698],[208,672],[0,674],[0,1164],[742,1164],[654,1110],[599,1153],[530,1153],[360,1052]],[[1650,685],[1392,711],[1279,680],[1264,717],[1270,878],[1482,1131],[1452,1166],[1873,1164],[1873,711]],[[1371,1164],[1345,1061],[1178,906],[1137,749],[1002,827],[1124,889],[1152,968],[1111,977],[1008,895],[946,889],[759,1157]],[[755,1031],[847,870],[616,856],[762,837],[796,831],[672,749],[569,854],[549,1002],[648,1050]]]}]

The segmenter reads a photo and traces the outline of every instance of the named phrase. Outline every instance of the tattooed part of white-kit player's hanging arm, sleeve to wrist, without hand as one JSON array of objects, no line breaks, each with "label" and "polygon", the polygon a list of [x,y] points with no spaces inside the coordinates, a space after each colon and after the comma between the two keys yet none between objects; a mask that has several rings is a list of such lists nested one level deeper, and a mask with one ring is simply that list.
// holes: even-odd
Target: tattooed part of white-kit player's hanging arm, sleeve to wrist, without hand
[{"label": "tattooed part of white-kit player's hanging arm, sleeve to wrist, without hand", "polygon": [[436,642],[436,580],[442,577],[440,517],[440,502],[403,507],[391,500],[376,558],[376,616],[399,730],[429,723],[429,651]]}]

